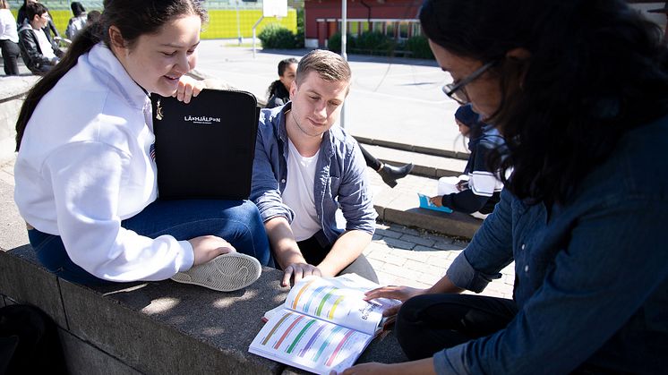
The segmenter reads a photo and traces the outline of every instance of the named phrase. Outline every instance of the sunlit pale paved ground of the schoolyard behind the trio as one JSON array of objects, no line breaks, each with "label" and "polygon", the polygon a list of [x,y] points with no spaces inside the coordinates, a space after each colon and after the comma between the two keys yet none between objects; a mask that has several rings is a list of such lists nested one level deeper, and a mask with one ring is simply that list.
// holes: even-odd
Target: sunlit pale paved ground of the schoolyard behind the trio
[{"label": "sunlit pale paved ground of the schoolyard behind the trio", "polygon": [[[263,98],[264,90],[274,79],[280,59],[305,52],[259,52],[253,58],[251,48],[225,44],[220,40],[202,40],[198,69],[237,88],[250,90],[258,98]],[[346,127],[350,132],[437,149],[461,147],[452,120],[456,104],[441,92],[441,85],[450,77],[434,63],[355,55],[349,59],[355,77],[347,100]],[[22,64],[21,69],[24,69]],[[370,175],[374,192],[389,189],[379,175],[371,170]],[[408,176],[395,189],[435,192],[435,180],[426,186],[416,181]],[[27,243],[21,217],[13,205],[13,159],[0,166],[0,209],[3,216],[0,246],[11,249]],[[364,253],[382,284],[427,287],[444,274],[466,245],[452,238],[379,223],[373,243]],[[484,294],[511,298],[513,265],[502,274]]]}]

